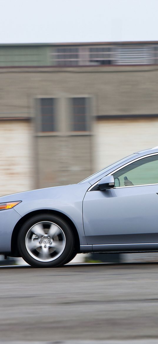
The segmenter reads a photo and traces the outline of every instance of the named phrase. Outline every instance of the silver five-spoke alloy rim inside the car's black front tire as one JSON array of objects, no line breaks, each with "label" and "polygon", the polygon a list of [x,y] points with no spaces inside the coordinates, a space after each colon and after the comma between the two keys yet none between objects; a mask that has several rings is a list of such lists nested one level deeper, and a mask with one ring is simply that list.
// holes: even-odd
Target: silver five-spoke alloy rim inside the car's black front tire
[{"label": "silver five-spoke alloy rim inside the car's black front tire", "polygon": [[27,232],[26,249],[34,259],[48,262],[57,259],[64,251],[66,238],[63,230],[49,221],[38,222]]}]

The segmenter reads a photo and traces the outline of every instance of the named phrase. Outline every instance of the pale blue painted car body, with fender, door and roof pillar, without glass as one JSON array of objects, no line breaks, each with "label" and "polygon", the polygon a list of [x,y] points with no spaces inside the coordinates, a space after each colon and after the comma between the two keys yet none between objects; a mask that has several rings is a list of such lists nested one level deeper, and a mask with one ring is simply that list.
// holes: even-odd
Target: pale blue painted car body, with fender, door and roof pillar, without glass
[{"label": "pale blue painted car body, with fender, door and roof pillar, without glass", "polygon": [[158,185],[88,191],[116,168],[156,152],[157,148],[135,153],[78,184],[0,197],[0,203],[22,201],[13,209],[0,211],[0,252],[11,251],[16,223],[26,214],[41,209],[58,211],[71,219],[78,232],[81,252],[92,248],[94,251],[158,250]]}]

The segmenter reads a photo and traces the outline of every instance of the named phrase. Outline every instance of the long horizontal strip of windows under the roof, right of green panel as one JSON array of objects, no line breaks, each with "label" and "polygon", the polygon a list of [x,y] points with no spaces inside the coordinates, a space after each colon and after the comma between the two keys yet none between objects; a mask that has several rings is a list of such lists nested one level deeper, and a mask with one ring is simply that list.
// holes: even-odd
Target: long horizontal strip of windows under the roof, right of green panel
[{"label": "long horizontal strip of windows under the roof, right of green panel", "polygon": [[158,44],[58,46],[50,52],[53,66],[143,65],[158,63]]}]

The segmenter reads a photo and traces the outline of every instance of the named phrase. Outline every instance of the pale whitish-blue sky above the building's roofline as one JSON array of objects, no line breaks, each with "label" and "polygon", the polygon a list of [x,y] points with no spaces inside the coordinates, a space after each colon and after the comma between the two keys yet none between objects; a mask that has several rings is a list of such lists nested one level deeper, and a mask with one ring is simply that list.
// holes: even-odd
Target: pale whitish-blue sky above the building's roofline
[{"label": "pale whitish-blue sky above the building's roofline", "polygon": [[158,0],[0,0],[0,43],[158,41]]}]

